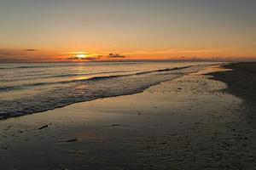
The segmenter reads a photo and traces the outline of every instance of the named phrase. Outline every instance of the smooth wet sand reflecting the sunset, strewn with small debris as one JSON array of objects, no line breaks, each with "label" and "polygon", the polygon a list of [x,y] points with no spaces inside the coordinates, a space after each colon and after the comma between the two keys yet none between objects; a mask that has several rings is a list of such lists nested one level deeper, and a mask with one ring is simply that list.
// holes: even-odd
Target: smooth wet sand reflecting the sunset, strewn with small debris
[{"label": "smooth wet sand reflecting the sunset, strewn with small debris", "polygon": [[256,169],[246,101],[214,71],[3,120],[0,169]]}]

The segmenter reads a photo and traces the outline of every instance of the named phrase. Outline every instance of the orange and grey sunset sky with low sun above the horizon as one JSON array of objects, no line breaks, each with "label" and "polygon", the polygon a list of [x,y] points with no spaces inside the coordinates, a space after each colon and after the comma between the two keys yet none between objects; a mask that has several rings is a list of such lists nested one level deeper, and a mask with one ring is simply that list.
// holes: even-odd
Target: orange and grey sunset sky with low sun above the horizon
[{"label": "orange and grey sunset sky with low sun above the horizon", "polygon": [[0,63],[256,59],[255,0],[0,0]]}]

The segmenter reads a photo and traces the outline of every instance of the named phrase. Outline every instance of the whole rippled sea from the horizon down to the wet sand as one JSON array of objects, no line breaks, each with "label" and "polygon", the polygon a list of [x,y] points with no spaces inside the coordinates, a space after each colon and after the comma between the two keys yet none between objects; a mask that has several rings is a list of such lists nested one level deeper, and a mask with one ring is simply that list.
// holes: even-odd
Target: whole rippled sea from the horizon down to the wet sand
[{"label": "whole rippled sea from the horizon down to the wet sand", "polygon": [[136,94],[212,63],[0,64],[0,119],[77,102]]}]

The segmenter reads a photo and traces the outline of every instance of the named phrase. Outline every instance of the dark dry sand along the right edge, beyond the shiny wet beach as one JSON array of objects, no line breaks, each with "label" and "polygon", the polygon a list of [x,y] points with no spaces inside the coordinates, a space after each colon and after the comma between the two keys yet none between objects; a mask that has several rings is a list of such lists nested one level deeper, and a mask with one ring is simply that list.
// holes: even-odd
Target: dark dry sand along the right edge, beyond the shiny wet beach
[{"label": "dark dry sand along the right edge, beyond the shiny wet beach", "polygon": [[224,68],[229,71],[212,73],[212,78],[225,82],[228,85],[227,93],[243,99],[243,105],[247,108],[244,114],[247,122],[256,127],[256,63],[233,63],[224,65]]}]

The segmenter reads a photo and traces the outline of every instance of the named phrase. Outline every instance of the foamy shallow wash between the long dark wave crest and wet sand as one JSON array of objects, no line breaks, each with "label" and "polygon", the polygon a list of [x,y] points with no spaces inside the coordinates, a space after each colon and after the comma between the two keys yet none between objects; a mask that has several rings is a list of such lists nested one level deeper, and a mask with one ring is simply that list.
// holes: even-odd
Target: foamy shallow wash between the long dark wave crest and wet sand
[{"label": "foamy shallow wash between the long dark wave crest and wet sand", "polygon": [[[167,75],[166,77],[154,75],[154,78],[149,76],[145,79],[145,77],[143,77],[144,81],[139,81],[141,80],[141,77],[132,77],[114,82],[86,84],[83,87],[80,87],[79,84],[74,84],[69,88],[51,88],[47,92],[42,92],[41,94],[32,95],[23,99],[2,100],[0,120],[14,116],[24,116],[32,113],[54,110],[63,106],[94,99],[137,94],[160,82],[169,81],[181,77],[182,75],[182,73],[175,73],[172,74],[172,76]],[[94,79],[95,78],[96,77],[94,77]],[[103,77],[97,77],[96,80],[101,78]]]}]

